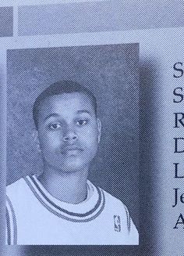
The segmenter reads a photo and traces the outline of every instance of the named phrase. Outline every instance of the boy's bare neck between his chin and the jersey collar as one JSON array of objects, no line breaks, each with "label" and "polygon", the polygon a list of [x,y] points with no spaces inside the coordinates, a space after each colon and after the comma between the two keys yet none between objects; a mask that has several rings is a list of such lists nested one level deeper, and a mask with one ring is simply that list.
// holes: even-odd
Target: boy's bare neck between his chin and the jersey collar
[{"label": "boy's bare neck between his chin and the jersey collar", "polygon": [[88,168],[81,171],[55,171],[44,166],[38,180],[51,196],[69,204],[79,204],[87,197]]}]

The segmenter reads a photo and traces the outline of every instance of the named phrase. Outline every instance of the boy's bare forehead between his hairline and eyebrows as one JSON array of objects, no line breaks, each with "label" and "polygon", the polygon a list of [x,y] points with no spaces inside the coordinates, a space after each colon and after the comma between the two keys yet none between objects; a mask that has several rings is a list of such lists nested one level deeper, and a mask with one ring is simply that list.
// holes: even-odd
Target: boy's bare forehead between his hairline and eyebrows
[{"label": "boy's bare forehead between his hairline and eyebrows", "polygon": [[63,93],[61,95],[49,96],[39,106],[39,114],[48,114],[55,111],[76,112],[77,110],[90,110],[94,112],[92,100],[83,92]]}]

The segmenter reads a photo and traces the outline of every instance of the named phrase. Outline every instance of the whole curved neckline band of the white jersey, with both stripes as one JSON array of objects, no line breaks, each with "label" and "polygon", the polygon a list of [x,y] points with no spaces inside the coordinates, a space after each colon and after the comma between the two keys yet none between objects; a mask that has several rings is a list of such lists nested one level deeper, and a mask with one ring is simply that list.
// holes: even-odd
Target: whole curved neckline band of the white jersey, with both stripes
[{"label": "whole curved neckline band of the white jersey, with both stripes", "polygon": [[57,215],[59,218],[65,218],[72,222],[89,222],[97,218],[104,210],[105,197],[102,189],[94,186],[87,181],[88,196],[80,204],[69,204],[52,197],[50,193],[42,186],[36,175],[24,178],[27,186],[30,187],[34,196],[40,201],[48,211]]}]

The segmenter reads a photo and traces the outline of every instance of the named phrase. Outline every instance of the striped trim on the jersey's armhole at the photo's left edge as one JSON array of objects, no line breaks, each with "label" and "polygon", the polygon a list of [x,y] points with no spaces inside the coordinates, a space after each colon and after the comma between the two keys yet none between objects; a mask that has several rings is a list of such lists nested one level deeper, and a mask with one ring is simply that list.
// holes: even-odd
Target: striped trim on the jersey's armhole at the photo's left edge
[{"label": "striped trim on the jersey's armhole at the photo's left edge", "polygon": [[[11,229],[9,211],[6,207],[8,244],[17,244],[16,214],[15,214],[15,211],[13,210],[12,203],[9,200],[8,196],[6,196],[6,200],[7,200],[7,203],[9,204],[10,211],[11,211],[11,214],[12,214],[12,229]],[[11,240],[11,234],[13,235],[13,240]],[[9,243],[9,241],[10,241],[10,243]]]}]

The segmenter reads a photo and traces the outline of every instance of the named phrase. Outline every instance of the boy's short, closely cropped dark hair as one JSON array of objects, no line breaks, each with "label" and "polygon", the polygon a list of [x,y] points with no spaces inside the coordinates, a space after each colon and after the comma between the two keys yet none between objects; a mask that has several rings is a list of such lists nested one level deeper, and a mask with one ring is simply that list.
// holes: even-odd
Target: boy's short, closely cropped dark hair
[{"label": "boy's short, closely cropped dark hair", "polygon": [[97,115],[97,99],[95,98],[94,94],[86,87],[83,85],[80,85],[76,81],[68,81],[68,80],[62,80],[62,81],[57,81],[54,84],[50,85],[48,88],[44,89],[43,92],[39,96],[37,96],[37,99],[34,102],[34,107],[33,107],[33,117],[34,117],[34,124],[35,127],[37,128],[38,122],[37,122],[37,117],[38,117],[38,111],[39,111],[39,106],[41,102],[44,101],[44,99],[47,99],[48,97],[55,96],[55,95],[61,95],[63,93],[73,93],[73,92],[81,92],[86,94],[90,100],[92,105],[94,106],[94,112]]}]

